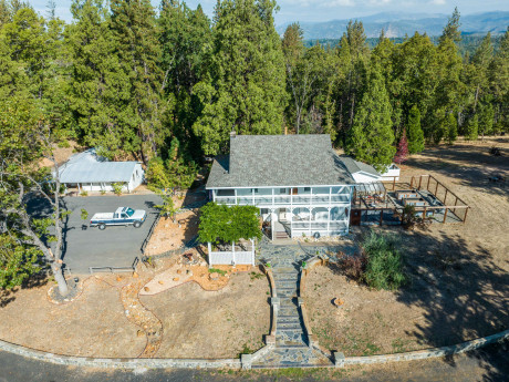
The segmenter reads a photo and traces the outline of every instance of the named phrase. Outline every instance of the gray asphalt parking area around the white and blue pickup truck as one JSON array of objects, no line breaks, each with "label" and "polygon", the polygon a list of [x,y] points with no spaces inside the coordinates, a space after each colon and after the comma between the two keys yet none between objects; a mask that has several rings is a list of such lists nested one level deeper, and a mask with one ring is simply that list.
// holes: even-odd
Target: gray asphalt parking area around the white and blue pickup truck
[{"label": "gray asphalt parking area around the white and blue pickup truck", "polygon": [[[128,267],[136,256],[141,255],[141,247],[156,217],[155,204],[160,203],[157,195],[124,195],[124,196],[89,196],[65,197],[65,206],[72,214],[69,216],[64,229],[65,242],[63,261],[73,273],[89,272],[89,267]],[[128,206],[135,209],[145,209],[147,220],[139,228],[107,227],[105,230],[89,228],[82,230],[83,220],[81,209],[89,211],[89,217],[95,213],[114,211],[118,207]],[[41,199],[30,204],[30,210],[44,216],[48,205]],[[86,220],[86,223],[89,223]]]}]

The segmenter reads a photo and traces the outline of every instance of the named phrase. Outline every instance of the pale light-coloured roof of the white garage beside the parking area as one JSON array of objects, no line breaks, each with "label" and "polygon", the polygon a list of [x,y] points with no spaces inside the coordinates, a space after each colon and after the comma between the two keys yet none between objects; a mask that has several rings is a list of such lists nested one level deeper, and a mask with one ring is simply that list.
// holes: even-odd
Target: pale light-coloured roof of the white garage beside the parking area
[{"label": "pale light-coloured roof of the white garage beside the parking area", "polygon": [[137,162],[106,162],[94,149],[73,155],[59,168],[61,183],[129,182]]}]

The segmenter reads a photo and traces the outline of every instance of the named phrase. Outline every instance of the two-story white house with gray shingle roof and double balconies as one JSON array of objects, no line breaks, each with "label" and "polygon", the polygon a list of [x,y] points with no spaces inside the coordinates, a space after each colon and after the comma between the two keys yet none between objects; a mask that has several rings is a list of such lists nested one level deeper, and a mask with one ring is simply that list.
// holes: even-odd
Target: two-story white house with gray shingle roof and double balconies
[{"label": "two-story white house with gray shingle roof and double balconies", "polygon": [[329,134],[232,133],[206,188],[216,203],[259,207],[274,239],[347,234],[354,185]]}]

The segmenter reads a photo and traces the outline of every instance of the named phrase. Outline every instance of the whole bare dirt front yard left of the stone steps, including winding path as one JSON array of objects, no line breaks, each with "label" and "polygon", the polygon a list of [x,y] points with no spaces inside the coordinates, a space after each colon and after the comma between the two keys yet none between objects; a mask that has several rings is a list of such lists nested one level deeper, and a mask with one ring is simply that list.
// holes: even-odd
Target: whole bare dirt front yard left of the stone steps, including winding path
[{"label": "whole bare dirt front yard left of the stone steps, including winding path", "polygon": [[[132,276],[85,276],[83,292],[64,304],[49,301],[51,281],[2,295],[0,339],[98,358],[235,358],[261,347],[270,322],[266,276],[231,267],[214,276],[200,264],[189,266],[193,279],[175,257]],[[164,291],[139,296],[146,286]]]}]

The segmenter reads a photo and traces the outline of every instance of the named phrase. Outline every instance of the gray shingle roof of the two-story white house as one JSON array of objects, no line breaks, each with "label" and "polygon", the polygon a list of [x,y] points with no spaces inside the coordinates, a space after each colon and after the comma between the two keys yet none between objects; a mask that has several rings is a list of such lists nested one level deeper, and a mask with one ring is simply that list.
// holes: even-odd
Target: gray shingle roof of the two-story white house
[{"label": "gray shingle roof of the two-story white house", "polygon": [[329,134],[237,135],[214,161],[207,188],[354,184]]}]

